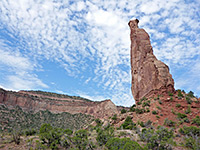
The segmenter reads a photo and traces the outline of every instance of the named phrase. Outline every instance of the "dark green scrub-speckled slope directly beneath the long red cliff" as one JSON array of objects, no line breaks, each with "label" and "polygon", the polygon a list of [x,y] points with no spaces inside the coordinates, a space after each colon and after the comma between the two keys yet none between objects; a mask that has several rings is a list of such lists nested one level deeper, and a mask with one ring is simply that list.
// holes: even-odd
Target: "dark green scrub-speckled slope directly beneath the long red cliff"
[{"label": "dark green scrub-speckled slope directly beneath the long red cliff", "polygon": [[0,105],[0,116],[1,122],[7,122],[7,124],[0,124],[0,131],[12,132],[12,129],[18,127],[19,130],[26,132],[25,134],[33,134],[31,130],[38,130],[44,123],[59,128],[80,129],[93,121],[92,116],[81,113],[54,114],[48,110],[34,113],[33,111],[25,112],[19,106],[8,109],[4,105]]}]

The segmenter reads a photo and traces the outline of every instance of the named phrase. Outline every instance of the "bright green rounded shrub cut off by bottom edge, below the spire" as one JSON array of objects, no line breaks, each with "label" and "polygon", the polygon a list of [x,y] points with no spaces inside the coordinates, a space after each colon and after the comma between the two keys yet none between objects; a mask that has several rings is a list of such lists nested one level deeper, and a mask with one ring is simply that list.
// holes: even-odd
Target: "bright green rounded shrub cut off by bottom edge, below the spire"
[{"label": "bright green rounded shrub cut off by bottom edge, below the spire", "polygon": [[111,138],[106,143],[109,150],[142,150],[143,148],[135,141],[129,138]]}]

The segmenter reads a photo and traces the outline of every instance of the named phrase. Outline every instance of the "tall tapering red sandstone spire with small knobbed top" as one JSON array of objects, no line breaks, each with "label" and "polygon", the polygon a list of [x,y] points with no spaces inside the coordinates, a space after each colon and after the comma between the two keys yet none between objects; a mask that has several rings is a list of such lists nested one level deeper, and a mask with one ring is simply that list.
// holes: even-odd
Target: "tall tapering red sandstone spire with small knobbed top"
[{"label": "tall tapering red sandstone spire with small knobbed top", "polygon": [[132,94],[136,102],[156,92],[174,92],[174,80],[169,67],[153,54],[148,33],[138,28],[139,20],[128,23],[131,33]]}]

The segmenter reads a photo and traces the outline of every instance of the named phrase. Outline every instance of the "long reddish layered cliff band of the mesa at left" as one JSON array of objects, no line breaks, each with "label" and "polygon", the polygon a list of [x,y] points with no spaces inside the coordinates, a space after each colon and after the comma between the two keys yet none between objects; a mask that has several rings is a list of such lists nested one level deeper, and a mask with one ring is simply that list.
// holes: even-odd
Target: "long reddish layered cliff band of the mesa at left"
[{"label": "long reddish layered cliff band of the mesa at left", "polygon": [[101,102],[82,99],[61,98],[35,94],[32,92],[12,92],[0,89],[0,104],[9,107],[20,106],[25,111],[49,110],[53,113],[83,113],[97,118],[109,118],[118,113],[111,100]]}]

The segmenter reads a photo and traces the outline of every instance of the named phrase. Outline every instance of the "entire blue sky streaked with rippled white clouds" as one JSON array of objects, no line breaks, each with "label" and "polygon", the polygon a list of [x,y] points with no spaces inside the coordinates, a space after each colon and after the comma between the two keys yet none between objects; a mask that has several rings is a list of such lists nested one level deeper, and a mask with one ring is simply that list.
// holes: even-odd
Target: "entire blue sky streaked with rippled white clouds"
[{"label": "entire blue sky streaked with rippled white clouds", "polygon": [[175,88],[200,95],[199,0],[1,0],[0,87],[134,103],[128,22],[140,20]]}]

